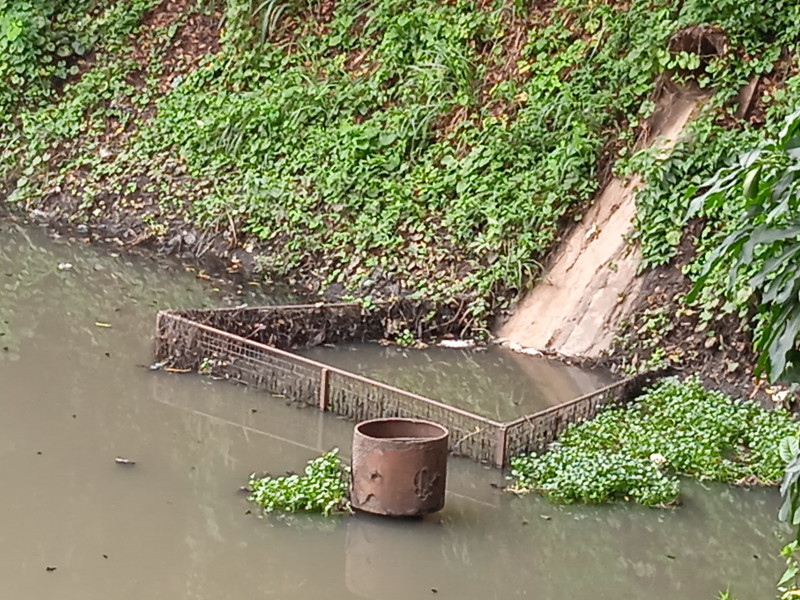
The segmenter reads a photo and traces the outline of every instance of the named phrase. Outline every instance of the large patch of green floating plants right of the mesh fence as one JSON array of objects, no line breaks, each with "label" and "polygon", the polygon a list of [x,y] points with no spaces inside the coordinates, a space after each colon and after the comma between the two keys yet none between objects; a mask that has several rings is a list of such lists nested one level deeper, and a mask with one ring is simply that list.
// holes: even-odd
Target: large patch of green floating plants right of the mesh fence
[{"label": "large patch of green floating plants right of the mesh fence", "polygon": [[513,459],[514,489],[564,503],[653,506],[678,498],[679,476],[777,484],[779,442],[796,431],[786,411],[709,391],[697,378],[667,378],[629,406],[570,425],[548,452]]}]

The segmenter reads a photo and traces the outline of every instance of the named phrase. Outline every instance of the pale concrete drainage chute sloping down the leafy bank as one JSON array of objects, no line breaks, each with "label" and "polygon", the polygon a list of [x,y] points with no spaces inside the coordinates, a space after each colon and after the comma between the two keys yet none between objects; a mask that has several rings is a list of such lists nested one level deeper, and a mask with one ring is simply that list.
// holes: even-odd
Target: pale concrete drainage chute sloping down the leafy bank
[{"label": "pale concrete drainage chute sloping down the leafy bank", "polygon": [[[699,98],[665,92],[643,145],[674,146]],[[629,242],[636,186],[612,179],[583,220],[562,240],[546,275],[520,302],[498,336],[512,347],[546,354],[598,357],[610,348],[641,289],[638,245]]]}]

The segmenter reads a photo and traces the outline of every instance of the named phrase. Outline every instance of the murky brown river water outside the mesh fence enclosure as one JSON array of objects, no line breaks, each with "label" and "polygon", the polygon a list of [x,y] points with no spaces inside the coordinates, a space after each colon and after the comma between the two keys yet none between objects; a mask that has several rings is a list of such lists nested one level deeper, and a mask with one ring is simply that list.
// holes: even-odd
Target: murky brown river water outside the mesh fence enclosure
[{"label": "murky brown river water outside the mesh fence enclosure", "polygon": [[453,459],[445,509],[421,521],[259,517],[238,491],[251,472],[346,449],[352,425],[146,368],[157,309],[241,300],[225,296],[174,265],[0,222],[0,597],[774,597],[774,490],[557,507]]}]

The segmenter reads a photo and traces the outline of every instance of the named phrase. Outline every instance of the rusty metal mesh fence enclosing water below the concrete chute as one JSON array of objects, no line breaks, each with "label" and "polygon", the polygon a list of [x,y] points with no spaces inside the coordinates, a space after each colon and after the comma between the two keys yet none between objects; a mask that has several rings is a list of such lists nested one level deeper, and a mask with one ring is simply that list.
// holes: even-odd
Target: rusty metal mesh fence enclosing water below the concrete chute
[{"label": "rusty metal mesh fence enclosing water below the concrete chute", "polygon": [[[632,398],[647,380],[646,376],[630,377],[546,410],[500,422],[291,351],[309,344],[378,342],[403,329],[420,337],[463,334],[465,328],[457,319],[447,327],[426,330],[425,316],[429,314],[427,307],[408,302],[372,309],[359,304],[314,304],[162,311],[157,318],[155,360],[165,369],[198,371],[244,383],[358,422],[430,421],[449,435],[381,437],[393,427],[385,424],[379,434],[372,430],[379,426],[362,425],[356,438],[364,436],[363,444],[372,443],[367,438],[390,444],[392,437],[435,439],[454,455],[496,467],[506,466],[518,454],[543,451],[567,425],[593,417],[607,404]],[[355,453],[353,460],[355,466]],[[433,478],[434,471],[429,468],[427,476]],[[419,514],[429,508],[423,503],[412,510]]]}]

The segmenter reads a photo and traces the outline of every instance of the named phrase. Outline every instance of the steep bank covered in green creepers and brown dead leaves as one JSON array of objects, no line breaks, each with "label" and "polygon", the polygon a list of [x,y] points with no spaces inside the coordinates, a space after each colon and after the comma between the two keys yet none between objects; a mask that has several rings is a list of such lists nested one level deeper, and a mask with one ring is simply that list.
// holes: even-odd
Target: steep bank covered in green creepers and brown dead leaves
[{"label": "steep bank covered in green creepers and brown dead leaves", "polygon": [[[89,237],[488,324],[615,161],[647,182],[646,267],[674,260],[702,182],[793,109],[798,39],[786,1],[0,0],[0,189]],[[663,85],[713,93],[669,156],[632,156]],[[686,308],[701,347],[747,316],[718,297]],[[643,360],[685,360],[653,339]]]}]

